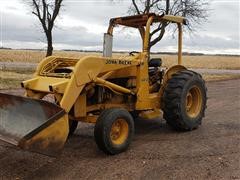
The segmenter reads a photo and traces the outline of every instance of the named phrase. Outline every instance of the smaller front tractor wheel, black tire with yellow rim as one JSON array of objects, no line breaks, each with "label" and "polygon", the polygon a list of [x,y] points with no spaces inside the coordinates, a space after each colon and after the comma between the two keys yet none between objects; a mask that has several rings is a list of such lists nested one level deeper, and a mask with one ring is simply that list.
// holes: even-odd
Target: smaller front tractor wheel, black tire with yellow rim
[{"label": "smaller front tractor wheel, black tire with yellow rim", "polygon": [[95,141],[103,152],[110,155],[124,152],[134,134],[133,118],[122,108],[104,110],[95,125]]}]

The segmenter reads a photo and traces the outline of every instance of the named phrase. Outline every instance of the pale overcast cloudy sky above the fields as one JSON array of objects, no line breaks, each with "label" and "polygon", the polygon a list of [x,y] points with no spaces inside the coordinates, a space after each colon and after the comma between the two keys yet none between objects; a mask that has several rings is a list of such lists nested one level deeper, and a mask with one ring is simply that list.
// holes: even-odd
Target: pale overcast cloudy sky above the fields
[{"label": "pale overcast cloudy sky above the fields", "polygon": [[[0,0],[0,46],[46,48],[39,22],[24,0]],[[208,22],[194,34],[184,35],[184,51],[208,54],[240,54],[239,0],[210,1]],[[101,50],[109,18],[127,15],[130,0],[65,0],[54,29],[55,49]],[[166,34],[153,51],[176,51],[177,40]],[[133,29],[117,28],[115,50],[140,50],[141,40]]]}]

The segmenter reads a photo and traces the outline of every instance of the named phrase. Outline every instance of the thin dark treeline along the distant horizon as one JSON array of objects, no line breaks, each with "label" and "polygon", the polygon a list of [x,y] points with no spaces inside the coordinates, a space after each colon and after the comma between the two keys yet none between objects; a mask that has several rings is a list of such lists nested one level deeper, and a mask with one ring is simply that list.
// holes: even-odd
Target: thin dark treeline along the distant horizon
[{"label": "thin dark treeline along the distant horizon", "polygon": [[[28,50],[28,51],[45,51],[45,49],[12,49],[6,47],[0,47],[0,49],[5,50]],[[102,53],[100,50],[75,50],[75,49],[62,49],[60,51],[69,51],[69,52],[84,52],[84,53]],[[129,53],[129,51],[113,51],[113,53]],[[151,54],[165,54],[165,55],[177,55],[177,52],[151,52]],[[240,55],[234,54],[204,54],[204,53],[189,53],[183,52],[185,56],[230,56],[230,57],[240,57]]]}]

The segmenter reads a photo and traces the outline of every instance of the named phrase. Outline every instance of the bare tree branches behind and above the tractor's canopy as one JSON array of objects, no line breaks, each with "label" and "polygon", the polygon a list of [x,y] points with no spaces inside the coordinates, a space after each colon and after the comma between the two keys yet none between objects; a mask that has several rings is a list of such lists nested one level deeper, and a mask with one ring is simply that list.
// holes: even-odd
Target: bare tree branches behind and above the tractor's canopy
[{"label": "bare tree branches behind and above the tractor's canopy", "polygon": [[[129,8],[130,14],[167,14],[186,17],[187,29],[194,31],[196,25],[207,20],[207,0],[132,0]],[[170,24],[159,23],[150,33],[150,48],[158,43],[165,34],[165,29]]]}]

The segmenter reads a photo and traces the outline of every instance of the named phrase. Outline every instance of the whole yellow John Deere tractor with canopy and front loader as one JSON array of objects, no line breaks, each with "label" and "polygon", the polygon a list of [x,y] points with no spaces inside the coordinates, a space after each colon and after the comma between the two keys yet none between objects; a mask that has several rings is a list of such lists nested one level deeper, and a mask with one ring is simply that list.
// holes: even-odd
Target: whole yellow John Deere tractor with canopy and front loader
[{"label": "whole yellow John Deere tractor with canopy and front loader", "polygon": [[[150,58],[150,28],[157,22],[178,27],[178,64],[168,69],[162,68],[161,59]],[[21,83],[25,97],[0,94],[0,139],[56,155],[81,121],[95,123],[96,144],[113,155],[129,147],[136,117],[163,115],[177,130],[197,128],[206,108],[206,87],[201,75],[181,65],[185,23],[183,17],[156,14],[113,18],[102,57],[43,59],[34,77]],[[112,57],[118,25],[139,30],[142,52]],[[49,94],[53,102],[43,100]]]}]

